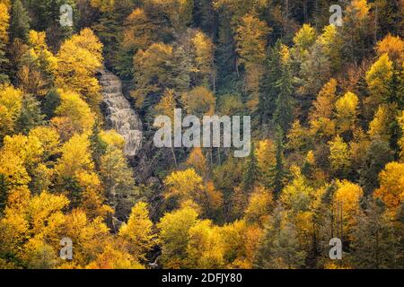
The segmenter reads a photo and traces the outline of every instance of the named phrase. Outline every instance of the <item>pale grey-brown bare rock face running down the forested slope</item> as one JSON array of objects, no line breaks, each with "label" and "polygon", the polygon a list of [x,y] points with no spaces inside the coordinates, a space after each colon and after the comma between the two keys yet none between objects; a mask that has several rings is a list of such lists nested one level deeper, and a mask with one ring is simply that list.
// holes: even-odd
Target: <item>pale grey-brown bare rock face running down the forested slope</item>
[{"label": "pale grey-brown bare rock face running down the forested slope", "polygon": [[125,139],[125,154],[136,156],[142,146],[142,121],[122,93],[119,77],[106,69],[99,71],[102,87],[102,109],[107,127]]}]

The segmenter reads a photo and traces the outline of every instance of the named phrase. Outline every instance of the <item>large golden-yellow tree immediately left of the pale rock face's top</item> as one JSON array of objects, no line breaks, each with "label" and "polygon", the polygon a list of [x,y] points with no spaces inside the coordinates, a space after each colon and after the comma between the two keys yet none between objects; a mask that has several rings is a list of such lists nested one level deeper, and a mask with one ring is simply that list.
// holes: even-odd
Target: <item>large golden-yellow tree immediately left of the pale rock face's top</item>
[{"label": "large golden-yellow tree immediately left of the pale rock face's top", "polygon": [[86,28],[62,44],[55,71],[57,87],[82,95],[96,111],[101,101],[100,84],[95,78],[102,65],[101,52],[100,40]]}]

